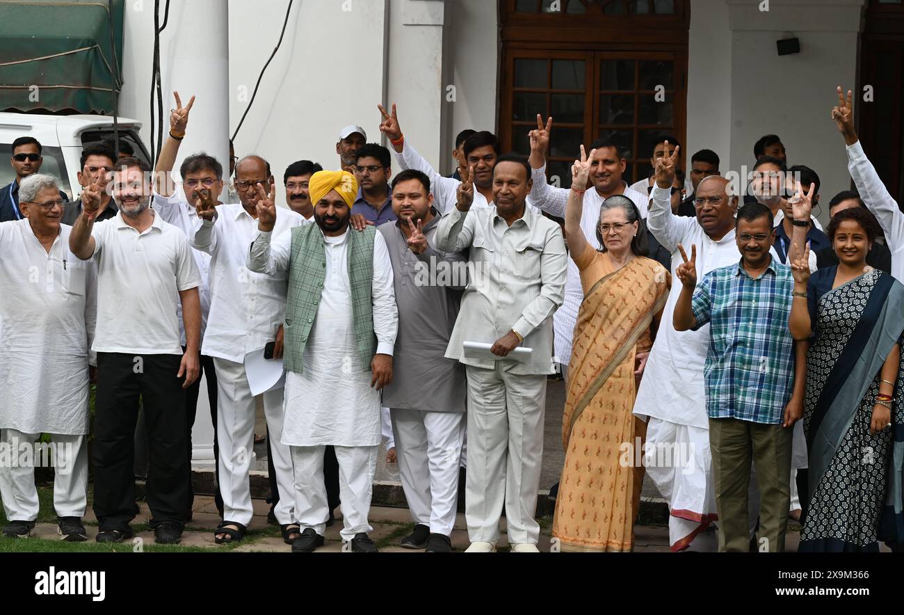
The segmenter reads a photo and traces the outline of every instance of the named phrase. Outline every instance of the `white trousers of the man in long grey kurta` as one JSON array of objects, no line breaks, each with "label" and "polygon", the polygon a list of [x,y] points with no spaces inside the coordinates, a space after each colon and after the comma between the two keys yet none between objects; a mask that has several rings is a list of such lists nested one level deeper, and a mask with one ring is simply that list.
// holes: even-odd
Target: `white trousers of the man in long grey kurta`
[{"label": "white trousers of the man in long grey kurta", "polygon": [[401,487],[411,519],[428,525],[432,534],[451,535],[465,413],[399,408],[393,408],[391,413]]}]

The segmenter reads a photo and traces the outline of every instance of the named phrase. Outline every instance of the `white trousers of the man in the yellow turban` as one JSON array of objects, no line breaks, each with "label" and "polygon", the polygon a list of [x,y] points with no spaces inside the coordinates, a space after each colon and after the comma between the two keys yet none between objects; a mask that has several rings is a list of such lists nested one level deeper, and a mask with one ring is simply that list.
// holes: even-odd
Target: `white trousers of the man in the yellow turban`
[{"label": "white trousers of the man in the yellow turban", "polygon": [[[298,525],[304,532],[308,527],[319,535],[326,531],[330,516],[326,505],[324,485],[324,446],[293,446],[295,466],[295,510]],[[371,512],[373,475],[377,471],[378,446],[336,446],[339,462],[339,500],[342,502],[343,529],[339,532],[346,542],[356,534],[373,531],[367,523]]]}]

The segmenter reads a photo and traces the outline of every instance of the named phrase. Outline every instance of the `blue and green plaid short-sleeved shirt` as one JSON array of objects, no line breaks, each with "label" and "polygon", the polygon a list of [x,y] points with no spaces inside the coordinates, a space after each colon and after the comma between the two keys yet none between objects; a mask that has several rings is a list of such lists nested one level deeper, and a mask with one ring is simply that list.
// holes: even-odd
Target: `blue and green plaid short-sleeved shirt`
[{"label": "blue and green plaid short-sleeved shirt", "polygon": [[794,391],[793,290],[791,268],[775,259],[757,279],[740,262],[703,276],[691,305],[694,330],[711,324],[703,368],[711,419],[782,422]]}]

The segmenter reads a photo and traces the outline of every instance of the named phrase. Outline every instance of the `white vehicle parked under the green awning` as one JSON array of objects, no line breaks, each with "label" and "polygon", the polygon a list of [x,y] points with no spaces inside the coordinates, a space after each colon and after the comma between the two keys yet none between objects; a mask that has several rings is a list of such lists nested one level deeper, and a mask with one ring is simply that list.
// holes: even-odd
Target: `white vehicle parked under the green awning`
[{"label": "white vehicle parked under the green awning", "polygon": [[[119,142],[135,151],[135,156],[150,162],[139,137],[141,122],[117,118]],[[113,139],[113,118],[97,115],[37,115],[33,113],[0,113],[0,186],[15,178],[13,166],[5,161],[13,154],[13,141],[18,137],[34,137],[41,142],[44,157],[41,173],[60,180],[60,189],[71,200],[79,198],[81,186],[78,172],[82,147],[104,139]],[[122,146],[120,146],[122,147]]]}]

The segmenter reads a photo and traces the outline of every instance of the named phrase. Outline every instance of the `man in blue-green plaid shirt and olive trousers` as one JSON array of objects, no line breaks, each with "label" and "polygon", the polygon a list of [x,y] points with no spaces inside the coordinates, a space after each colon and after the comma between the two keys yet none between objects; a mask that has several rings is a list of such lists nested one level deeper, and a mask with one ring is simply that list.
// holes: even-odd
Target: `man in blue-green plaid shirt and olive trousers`
[{"label": "man in blue-green plaid shirt and olive trousers", "polygon": [[781,552],[792,426],[804,414],[805,349],[796,349],[788,335],[794,279],[769,253],[772,213],[759,203],[744,205],[736,224],[740,262],[712,270],[699,286],[696,246],[690,260],[679,246],[684,262],[675,275],[683,289],[673,321],[678,331],[711,324],[704,377],[719,550],[749,551],[753,462],[761,497],[759,550]]}]

